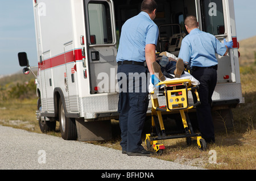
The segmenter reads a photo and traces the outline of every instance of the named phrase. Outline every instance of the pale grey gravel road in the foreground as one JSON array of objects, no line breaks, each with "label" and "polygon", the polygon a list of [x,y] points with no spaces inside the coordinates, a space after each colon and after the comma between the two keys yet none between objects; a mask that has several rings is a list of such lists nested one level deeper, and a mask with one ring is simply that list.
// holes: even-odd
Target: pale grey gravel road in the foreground
[{"label": "pale grey gravel road in the foreground", "polygon": [[0,125],[0,170],[200,170],[120,150]]}]

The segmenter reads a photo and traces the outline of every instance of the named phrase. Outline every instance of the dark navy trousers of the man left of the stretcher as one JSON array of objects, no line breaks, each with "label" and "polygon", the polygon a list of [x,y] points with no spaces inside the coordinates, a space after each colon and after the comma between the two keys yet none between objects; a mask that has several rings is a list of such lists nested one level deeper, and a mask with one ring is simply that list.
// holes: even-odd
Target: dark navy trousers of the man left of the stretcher
[{"label": "dark navy trousers of the man left of the stretcher", "polygon": [[143,149],[141,135],[148,108],[148,70],[141,65],[119,65],[119,125],[122,150],[137,152]]}]

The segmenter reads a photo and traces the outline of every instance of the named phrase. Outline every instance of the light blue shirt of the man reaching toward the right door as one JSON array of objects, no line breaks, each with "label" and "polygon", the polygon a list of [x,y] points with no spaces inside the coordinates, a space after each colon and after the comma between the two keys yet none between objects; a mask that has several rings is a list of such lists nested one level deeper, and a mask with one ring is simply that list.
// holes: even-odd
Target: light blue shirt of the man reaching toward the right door
[{"label": "light blue shirt of the man reaching toward the right door", "polygon": [[182,40],[179,58],[191,67],[210,67],[218,64],[216,53],[223,56],[226,46],[215,36],[196,28]]}]

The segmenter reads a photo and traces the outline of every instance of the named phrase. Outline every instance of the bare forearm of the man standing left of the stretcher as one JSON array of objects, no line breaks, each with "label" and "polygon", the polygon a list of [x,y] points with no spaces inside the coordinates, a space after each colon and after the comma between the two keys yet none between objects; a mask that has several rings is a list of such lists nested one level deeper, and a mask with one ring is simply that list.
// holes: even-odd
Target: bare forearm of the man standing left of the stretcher
[{"label": "bare forearm of the man standing left of the stretcher", "polygon": [[150,74],[155,74],[154,70],[152,68],[152,62],[155,61],[155,44],[147,44],[145,47],[145,58],[147,63],[148,71],[150,71]]}]

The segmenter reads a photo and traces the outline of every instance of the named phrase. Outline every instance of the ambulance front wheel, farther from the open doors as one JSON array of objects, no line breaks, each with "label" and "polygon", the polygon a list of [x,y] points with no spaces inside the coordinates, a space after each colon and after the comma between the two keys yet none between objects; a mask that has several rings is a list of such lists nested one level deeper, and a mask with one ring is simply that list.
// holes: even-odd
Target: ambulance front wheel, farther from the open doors
[{"label": "ambulance front wheel, farther from the open doors", "polygon": [[41,119],[41,112],[42,112],[42,104],[41,98],[38,99],[38,123],[40,130],[42,133],[47,133],[49,131],[55,131],[56,129],[56,121],[44,121]]}]

